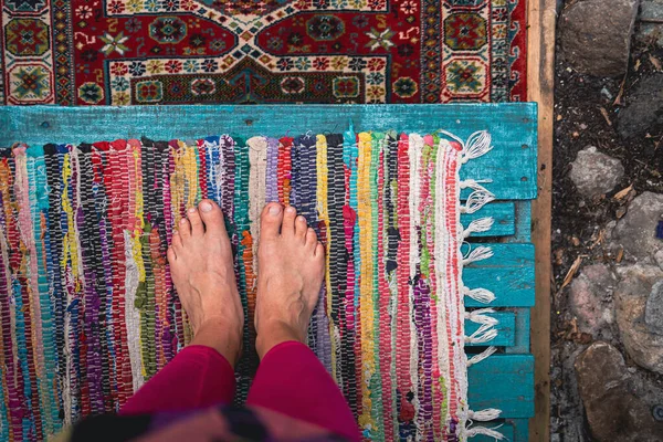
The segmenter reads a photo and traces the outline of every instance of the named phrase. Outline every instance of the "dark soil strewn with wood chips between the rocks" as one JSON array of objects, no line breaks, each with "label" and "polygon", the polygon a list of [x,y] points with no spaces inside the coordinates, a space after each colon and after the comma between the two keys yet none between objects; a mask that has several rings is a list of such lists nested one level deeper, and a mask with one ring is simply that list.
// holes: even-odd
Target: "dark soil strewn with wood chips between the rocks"
[{"label": "dark soil strewn with wood chips between the rocks", "polygon": [[[654,71],[663,71],[662,65],[663,50],[643,44],[632,49],[625,78],[590,77],[573,72],[562,61],[556,63],[550,332],[554,355],[556,348],[567,346],[568,349],[569,345],[581,346],[593,340],[591,335],[577,332],[568,311],[567,292],[561,290],[565,278],[568,280],[578,270],[573,263],[580,256],[580,270],[590,263],[618,264],[622,256],[619,250],[609,250],[603,241],[606,227],[624,215],[628,202],[635,194],[663,192],[663,128],[646,137],[628,140],[621,139],[615,130],[618,114],[628,105],[630,92],[643,77]],[[596,146],[620,159],[625,169],[623,179],[611,193],[593,200],[579,194],[568,176],[578,151],[588,146]],[[568,355],[568,351],[559,354]],[[552,372],[556,366],[562,364],[554,359]],[[571,388],[565,382],[565,376],[554,375],[552,394],[560,394],[565,388]],[[579,400],[577,393],[564,396]],[[569,406],[568,400],[558,402],[551,410],[552,419],[557,417],[558,422],[564,422],[565,415],[572,415],[572,410],[579,407],[579,403]],[[562,409],[565,407],[568,409]],[[556,425],[552,427],[555,431]],[[561,429],[558,427],[557,430]],[[586,429],[580,432],[587,435]],[[561,440],[570,439],[562,435]]]}]

